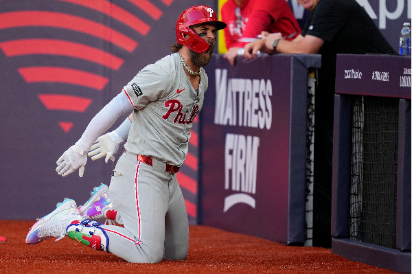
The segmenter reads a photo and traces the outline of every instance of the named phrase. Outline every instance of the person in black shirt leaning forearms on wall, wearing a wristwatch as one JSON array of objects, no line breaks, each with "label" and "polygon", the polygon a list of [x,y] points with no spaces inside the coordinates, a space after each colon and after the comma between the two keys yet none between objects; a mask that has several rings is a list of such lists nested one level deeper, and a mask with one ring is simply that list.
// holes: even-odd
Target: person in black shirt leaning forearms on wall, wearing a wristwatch
[{"label": "person in black shirt leaning forearms on wall, wearing a wristwatch", "polygon": [[244,56],[268,54],[321,54],[315,92],[314,227],[313,245],[330,247],[332,192],[332,139],[336,54],[396,54],[374,21],[356,0],[297,0],[310,10],[301,36],[286,41],[278,34],[244,46]]}]

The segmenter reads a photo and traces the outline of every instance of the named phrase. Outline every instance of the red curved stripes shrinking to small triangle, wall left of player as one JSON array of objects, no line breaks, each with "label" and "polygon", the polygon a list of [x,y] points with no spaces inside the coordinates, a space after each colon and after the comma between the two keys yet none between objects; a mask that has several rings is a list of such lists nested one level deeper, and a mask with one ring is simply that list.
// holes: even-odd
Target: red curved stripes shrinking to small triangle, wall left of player
[{"label": "red curved stripes shrinking to small triangle, wall left of player", "polygon": [[[170,5],[173,0],[161,0],[165,5]],[[56,10],[56,3],[66,3],[73,5],[70,12]],[[160,8],[150,2],[150,0],[128,0],[128,3],[142,10],[150,18],[159,20],[163,14]],[[8,41],[0,42],[0,49],[6,57],[34,56],[37,55],[39,65],[22,65],[17,69],[23,80],[30,84],[69,84],[75,85],[76,89],[102,91],[110,82],[110,79],[102,75],[102,72],[111,69],[117,71],[124,64],[124,58],[117,56],[113,52],[126,52],[130,54],[135,51],[139,43],[135,34],[146,36],[150,32],[150,25],[139,19],[135,14],[122,8],[121,6],[107,0],[56,0],[49,1],[49,5],[44,5],[45,10],[14,10],[0,13],[0,30],[21,30],[29,27],[45,27],[69,30],[85,34],[93,38],[101,39],[113,46],[111,51],[107,47],[92,47],[84,44],[83,41],[73,41],[70,39],[50,38],[45,32],[38,31],[36,38],[18,37]],[[52,9],[53,11],[50,11]],[[84,9],[104,14],[112,21],[125,25],[126,28],[117,30],[115,24],[100,23],[84,15],[73,14],[78,11],[82,13]],[[70,14],[69,14],[70,13]],[[119,28],[119,27],[117,27]],[[36,29],[38,30],[38,29]],[[125,33],[125,30],[129,30]],[[102,45],[104,45],[102,43]],[[65,62],[61,65],[41,65],[41,56],[62,56],[65,58],[76,58],[102,66],[106,69],[96,69],[89,71],[82,67],[68,67]],[[58,91],[56,91],[58,92]],[[84,93],[87,93],[84,92]],[[38,94],[38,99],[48,111],[75,111],[84,113],[92,104],[93,99],[86,96],[73,96],[70,94]],[[73,122],[58,121],[58,125],[63,132],[68,133],[73,127]]]}]

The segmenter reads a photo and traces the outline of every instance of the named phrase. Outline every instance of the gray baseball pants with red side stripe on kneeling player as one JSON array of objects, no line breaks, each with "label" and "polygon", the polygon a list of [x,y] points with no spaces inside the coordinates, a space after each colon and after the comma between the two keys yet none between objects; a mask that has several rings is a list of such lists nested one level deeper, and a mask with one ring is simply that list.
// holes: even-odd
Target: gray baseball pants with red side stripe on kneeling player
[{"label": "gray baseball pants with red side stripe on kneeling player", "polygon": [[153,167],[125,152],[113,171],[109,193],[124,227],[102,225],[108,251],[128,262],[185,260],[189,225],[176,174],[154,160]]}]

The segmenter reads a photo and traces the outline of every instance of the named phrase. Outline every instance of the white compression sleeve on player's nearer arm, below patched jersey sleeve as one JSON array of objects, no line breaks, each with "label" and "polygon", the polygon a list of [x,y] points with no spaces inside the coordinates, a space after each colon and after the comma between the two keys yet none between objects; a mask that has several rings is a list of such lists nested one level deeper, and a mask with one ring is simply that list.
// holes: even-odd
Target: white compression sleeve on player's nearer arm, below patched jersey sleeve
[{"label": "white compression sleeve on player's nearer arm, below patched jersey sleeve", "polygon": [[76,144],[84,150],[90,150],[94,141],[113,126],[117,118],[126,113],[130,114],[134,109],[122,91],[91,119],[89,126]]}]

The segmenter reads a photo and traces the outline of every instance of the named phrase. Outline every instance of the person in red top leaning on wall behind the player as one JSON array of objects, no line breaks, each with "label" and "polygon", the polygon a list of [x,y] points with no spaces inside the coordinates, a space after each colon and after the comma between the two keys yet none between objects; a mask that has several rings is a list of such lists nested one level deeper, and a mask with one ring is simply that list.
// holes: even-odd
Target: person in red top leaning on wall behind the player
[{"label": "person in red top leaning on wall behind the player", "polygon": [[228,0],[221,13],[222,21],[228,26],[224,30],[228,49],[224,57],[231,65],[238,49],[249,42],[247,38],[256,38],[264,30],[290,36],[287,40],[301,33],[299,23],[285,0]]}]

